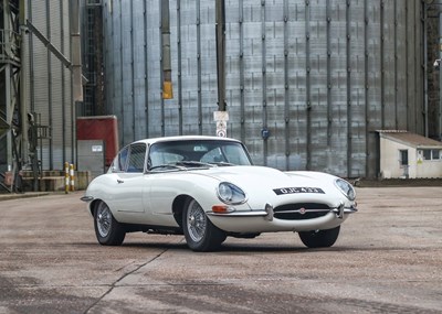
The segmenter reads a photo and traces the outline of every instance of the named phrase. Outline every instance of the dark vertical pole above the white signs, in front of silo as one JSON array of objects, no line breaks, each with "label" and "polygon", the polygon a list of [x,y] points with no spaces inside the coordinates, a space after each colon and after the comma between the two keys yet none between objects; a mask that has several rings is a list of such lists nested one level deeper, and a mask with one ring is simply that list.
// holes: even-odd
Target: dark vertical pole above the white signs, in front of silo
[{"label": "dark vertical pole above the white signs, in front of silo", "polygon": [[224,0],[215,1],[218,109],[219,111],[225,111],[225,3]]}]

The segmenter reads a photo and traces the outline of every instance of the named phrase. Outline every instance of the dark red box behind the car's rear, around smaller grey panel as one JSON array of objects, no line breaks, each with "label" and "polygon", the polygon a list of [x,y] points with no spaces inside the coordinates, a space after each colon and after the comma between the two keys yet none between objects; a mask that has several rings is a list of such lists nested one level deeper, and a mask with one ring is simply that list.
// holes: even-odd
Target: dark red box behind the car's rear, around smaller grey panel
[{"label": "dark red box behind the car's rear, around smaller grey panel", "polygon": [[118,121],[116,116],[80,117],[76,119],[77,140],[103,140],[105,166],[108,167],[118,152]]}]

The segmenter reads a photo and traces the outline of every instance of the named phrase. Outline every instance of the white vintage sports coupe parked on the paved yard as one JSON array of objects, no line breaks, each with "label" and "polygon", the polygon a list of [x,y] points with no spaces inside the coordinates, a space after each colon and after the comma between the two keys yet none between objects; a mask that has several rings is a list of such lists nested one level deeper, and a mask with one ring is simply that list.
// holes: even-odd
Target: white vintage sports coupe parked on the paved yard
[{"label": "white vintage sports coupe parked on the paved yard", "polygon": [[252,164],[245,147],[215,137],[136,141],[119,151],[82,201],[102,245],[126,232],[185,235],[190,249],[217,249],[228,236],[297,231],[309,248],[335,243],[357,212],[347,181],[319,172]]}]

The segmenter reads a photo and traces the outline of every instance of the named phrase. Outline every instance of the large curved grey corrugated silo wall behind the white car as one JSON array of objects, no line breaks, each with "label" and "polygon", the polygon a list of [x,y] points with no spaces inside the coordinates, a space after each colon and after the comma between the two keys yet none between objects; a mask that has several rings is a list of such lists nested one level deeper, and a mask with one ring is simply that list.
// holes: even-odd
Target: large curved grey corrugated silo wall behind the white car
[{"label": "large curved grey corrugated silo wall behind the white car", "polygon": [[[170,1],[172,100],[160,97],[160,0],[103,3],[107,109],[122,144],[214,134],[215,1]],[[228,136],[257,164],[375,177],[376,130],[424,132],[421,6],[227,0]]]}]

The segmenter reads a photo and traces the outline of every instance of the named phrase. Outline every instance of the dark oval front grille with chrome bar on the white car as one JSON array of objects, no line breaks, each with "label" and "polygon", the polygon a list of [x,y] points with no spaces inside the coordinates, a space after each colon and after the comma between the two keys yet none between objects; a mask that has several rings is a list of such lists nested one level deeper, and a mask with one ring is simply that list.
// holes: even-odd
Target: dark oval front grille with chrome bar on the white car
[{"label": "dark oval front grille with chrome bar on the white car", "polygon": [[273,212],[277,219],[304,220],[325,216],[330,207],[320,203],[297,203],[277,206]]}]

